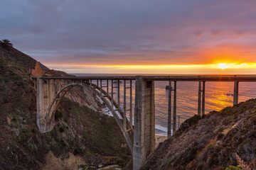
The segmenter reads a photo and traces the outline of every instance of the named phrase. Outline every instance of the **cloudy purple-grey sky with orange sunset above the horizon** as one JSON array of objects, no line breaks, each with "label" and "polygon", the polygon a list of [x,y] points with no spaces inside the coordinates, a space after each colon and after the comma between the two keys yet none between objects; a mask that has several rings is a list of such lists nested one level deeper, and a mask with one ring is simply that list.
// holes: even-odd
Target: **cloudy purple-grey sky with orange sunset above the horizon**
[{"label": "cloudy purple-grey sky with orange sunset above the horizon", "polygon": [[[0,0],[0,38],[68,73],[256,72],[255,0]],[[221,64],[225,67],[221,69]]]}]

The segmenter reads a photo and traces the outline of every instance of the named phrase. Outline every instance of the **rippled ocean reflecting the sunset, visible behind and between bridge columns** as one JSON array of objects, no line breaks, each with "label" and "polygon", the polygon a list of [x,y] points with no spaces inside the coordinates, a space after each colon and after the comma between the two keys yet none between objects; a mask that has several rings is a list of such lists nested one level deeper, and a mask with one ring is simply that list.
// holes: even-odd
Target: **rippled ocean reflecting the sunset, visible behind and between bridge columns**
[{"label": "rippled ocean reflecting the sunset, visible behind and between bridge columns", "polygon": [[[74,74],[79,77],[102,77],[102,76],[135,76],[136,74]],[[149,74],[144,74],[148,76]],[[152,75],[152,74],[150,74]],[[158,74],[159,75],[159,74]],[[161,74],[169,75],[171,74]],[[183,74],[184,75],[184,74]],[[193,74],[191,74],[193,75]],[[154,74],[156,76],[156,74]],[[96,83],[96,81],[92,82]],[[129,86],[129,81],[126,82]],[[106,86],[107,82],[102,81],[102,86]],[[169,85],[168,81],[155,81],[155,112],[156,112],[156,135],[167,135],[167,116],[168,116],[168,90],[166,86]],[[110,91],[111,84],[109,82]],[[120,84],[120,105],[123,108],[123,86]],[[106,88],[105,88],[106,89]],[[117,89],[114,91],[114,100],[117,101]],[[233,106],[233,92],[234,83],[230,82],[210,82],[206,81],[206,114],[210,111],[220,111],[227,106]],[[197,114],[198,107],[198,82],[193,81],[177,81],[177,128],[184,120],[191,118]],[[134,101],[135,101],[135,81],[132,81],[132,101],[134,114]],[[172,97],[174,94],[172,94]],[[238,102],[247,101],[250,98],[256,97],[256,82],[240,82],[239,83],[239,99]],[[126,95],[127,108],[129,108],[129,89]],[[172,100],[173,102],[173,100]],[[172,103],[173,106],[173,103]],[[173,109],[172,109],[173,113]],[[127,113],[129,116],[129,113]],[[178,120],[179,117],[179,120]]]}]

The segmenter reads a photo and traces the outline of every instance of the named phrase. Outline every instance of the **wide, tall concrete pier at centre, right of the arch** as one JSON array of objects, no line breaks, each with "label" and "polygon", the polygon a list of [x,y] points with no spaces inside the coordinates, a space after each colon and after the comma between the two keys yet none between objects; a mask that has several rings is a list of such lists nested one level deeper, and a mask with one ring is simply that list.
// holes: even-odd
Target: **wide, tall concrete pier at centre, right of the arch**
[{"label": "wide, tall concrete pier at centre, right of the arch", "polygon": [[154,81],[136,77],[133,169],[139,169],[155,149]]}]

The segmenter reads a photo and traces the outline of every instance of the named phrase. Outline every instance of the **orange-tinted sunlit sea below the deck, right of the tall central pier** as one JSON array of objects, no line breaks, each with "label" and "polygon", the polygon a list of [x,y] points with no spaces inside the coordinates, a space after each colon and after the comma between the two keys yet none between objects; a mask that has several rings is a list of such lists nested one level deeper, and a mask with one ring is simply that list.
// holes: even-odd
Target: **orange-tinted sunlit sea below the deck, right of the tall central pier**
[{"label": "orange-tinted sunlit sea below the deck, right of the tall central pier", "polygon": [[[156,124],[167,127],[168,82],[156,81],[155,103]],[[206,82],[206,114],[210,111],[220,111],[227,106],[233,106],[233,82]],[[172,102],[173,102],[172,94]],[[247,101],[256,96],[255,82],[240,82],[239,102]],[[173,105],[173,103],[172,103]],[[177,82],[177,116],[180,115],[180,124],[195,114],[198,107],[198,82]],[[178,121],[178,118],[177,118]],[[178,126],[178,123],[176,123]],[[177,127],[178,128],[178,127]],[[163,132],[163,134],[166,134]]]}]

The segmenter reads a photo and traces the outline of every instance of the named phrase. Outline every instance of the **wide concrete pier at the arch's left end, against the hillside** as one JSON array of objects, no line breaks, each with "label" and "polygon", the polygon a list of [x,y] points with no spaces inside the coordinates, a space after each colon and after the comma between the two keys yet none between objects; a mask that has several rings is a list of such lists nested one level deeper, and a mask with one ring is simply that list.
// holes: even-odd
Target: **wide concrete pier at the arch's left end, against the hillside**
[{"label": "wide concrete pier at the arch's left end, against the hillside", "polygon": [[54,81],[50,79],[45,81],[41,77],[37,78],[37,97],[36,97],[36,123],[40,132],[48,132],[54,127],[54,120],[51,120],[50,123],[45,123],[46,112],[50,105],[50,102],[53,100],[54,94]]}]

